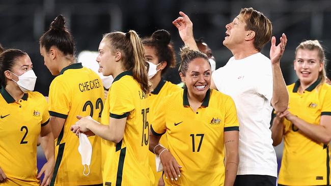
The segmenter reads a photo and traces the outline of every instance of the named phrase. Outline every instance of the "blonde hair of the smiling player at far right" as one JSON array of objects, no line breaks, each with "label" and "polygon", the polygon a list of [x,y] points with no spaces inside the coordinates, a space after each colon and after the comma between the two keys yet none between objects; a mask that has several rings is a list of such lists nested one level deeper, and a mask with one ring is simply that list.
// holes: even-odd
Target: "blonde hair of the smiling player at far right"
[{"label": "blonde hair of the smiling player at far right", "polygon": [[321,79],[321,83],[323,83],[325,81],[325,76],[326,76],[326,72],[325,72],[326,58],[325,58],[324,49],[323,49],[322,45],[319,43],[318,40],[307,40],[307,41],[301,42],[295,48],[295,58],[296,58],[296,53],[299,49],[317,50],[318,51],[318,57],[319,57],[320,63],[324,63],[322,71],[318,73],[318,77]]}]

